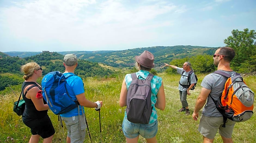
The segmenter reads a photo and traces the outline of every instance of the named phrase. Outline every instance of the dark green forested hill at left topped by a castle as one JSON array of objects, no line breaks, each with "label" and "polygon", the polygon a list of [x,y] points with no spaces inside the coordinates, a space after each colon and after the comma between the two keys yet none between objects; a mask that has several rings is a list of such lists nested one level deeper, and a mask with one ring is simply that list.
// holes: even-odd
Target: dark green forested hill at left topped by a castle
[{"label": "dark green forested hill at left topped by a castle", "polygon": [[[35,61],[38,63],[43,71],[44,76],[48,72],[60,71],[64,72],[62,54],[56,52],[43,52],[41,54],[25,57],[20,59],[19,57],[2,57],[0,58],[0,90],[5,89],[9,85],[18,85],[23,82],[23,74],[20,72],[20,67],[28,62]],[[78,60],[78,67],[75,70],[75,74],[80,77],[108,77],[113,73],[112,70],[100,67],[98,63]]]}]

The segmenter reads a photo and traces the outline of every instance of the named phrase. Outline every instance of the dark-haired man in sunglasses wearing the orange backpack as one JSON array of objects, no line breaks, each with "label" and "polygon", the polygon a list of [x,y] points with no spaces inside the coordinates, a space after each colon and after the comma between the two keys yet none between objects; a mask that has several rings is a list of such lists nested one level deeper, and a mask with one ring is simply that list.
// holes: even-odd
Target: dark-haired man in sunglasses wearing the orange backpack
[{"label": "dark-haired man in sunglasses wearing the orange backpack", "polygon": [[[222,70],[230,76],[234,76],[236,72],[230,68],[230,61],[234,58],[234,56],[235,52],[232,48],[221,47],[216,50],[215,54],[213,55],[214,65],[218,67],[218,70]],[[192,117],[195,121],[197,121],[199,111],[203,108],[207,100],[207,103],[203,108],[198,127],[198,131],[203,135],[204,143],[213,142],[218,130],[224,143],[233,143],[232,132],[235,122],[227,119],[226,127],[222,127],[223,116],[217,110],[215,103],[209,96],[211,95],[214,100],[217,101],[222,95],[226,80],[227,78],[224,76],[211,73],[205,76],[201,83],[202,90],[197,98]]]}]

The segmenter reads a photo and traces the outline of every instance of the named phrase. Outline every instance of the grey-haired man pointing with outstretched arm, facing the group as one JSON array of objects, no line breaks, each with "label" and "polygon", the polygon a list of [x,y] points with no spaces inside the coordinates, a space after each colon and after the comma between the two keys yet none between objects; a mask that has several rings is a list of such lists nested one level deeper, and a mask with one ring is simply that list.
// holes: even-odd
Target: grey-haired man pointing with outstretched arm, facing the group
[{"label": "grey-haired man pointing with outstretched arm, facing the group", "polygon": [[[188,74],[192,69],[190,62],[185,62],[182,66],[182,68],[169,65],[164,63],[164,66],[171,67],[173,69],[177,69],[177,72],[181,74],[181,79],[179,80],[179,97],[182,104],[182,108],[178,110],[178,112],[185,112],[185,115],[190,115],[190,111],[188,109],[188,102],[187,102],[187,95],[190,95],[189,90],[194,86],[194,84],[197,82],[195,73],[192,72],[190,75],[190,81],[188,82]],[[191,83],[191,84],[189,84]]]}]

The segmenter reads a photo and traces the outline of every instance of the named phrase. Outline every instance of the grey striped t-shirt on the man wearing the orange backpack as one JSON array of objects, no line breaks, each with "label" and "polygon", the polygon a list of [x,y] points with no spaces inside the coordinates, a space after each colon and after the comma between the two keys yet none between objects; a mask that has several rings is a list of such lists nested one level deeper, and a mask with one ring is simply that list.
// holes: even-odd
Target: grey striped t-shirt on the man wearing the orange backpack
[{"label": "grey striped t-shirt on the man wearing the orange backpack", "polygon": [[[230,76],[234,76],[236,72],[227,72]],[[215,101],[219,99],[224,90],[225,82],[227,81],[227,77],[221,76],[220,74],[211,73],[205,76],[203,79],[201,86],[211,90],[210,95],[214,98]],[[208,117],[220,117],[221,113],[216,108],[215,103],[212,101],[212,98],[208,96],[205,107],[203,108],[202,114]]]}]

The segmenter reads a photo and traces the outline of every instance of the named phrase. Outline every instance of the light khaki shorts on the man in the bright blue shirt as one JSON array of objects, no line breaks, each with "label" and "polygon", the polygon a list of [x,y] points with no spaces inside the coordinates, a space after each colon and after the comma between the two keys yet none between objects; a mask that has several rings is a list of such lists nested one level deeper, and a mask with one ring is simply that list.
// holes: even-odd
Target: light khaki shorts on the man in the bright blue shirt
[{"label": "light khaki shorts on the man in the bright blue shirt", "polygon": [[[86,134],[86,122],[83,115],[80,115],[80,123],[78,116],[61,117],[68,129],[68,137],[72,143],[83,143]],[[79,128],[79,125],[81,128]]]}]

